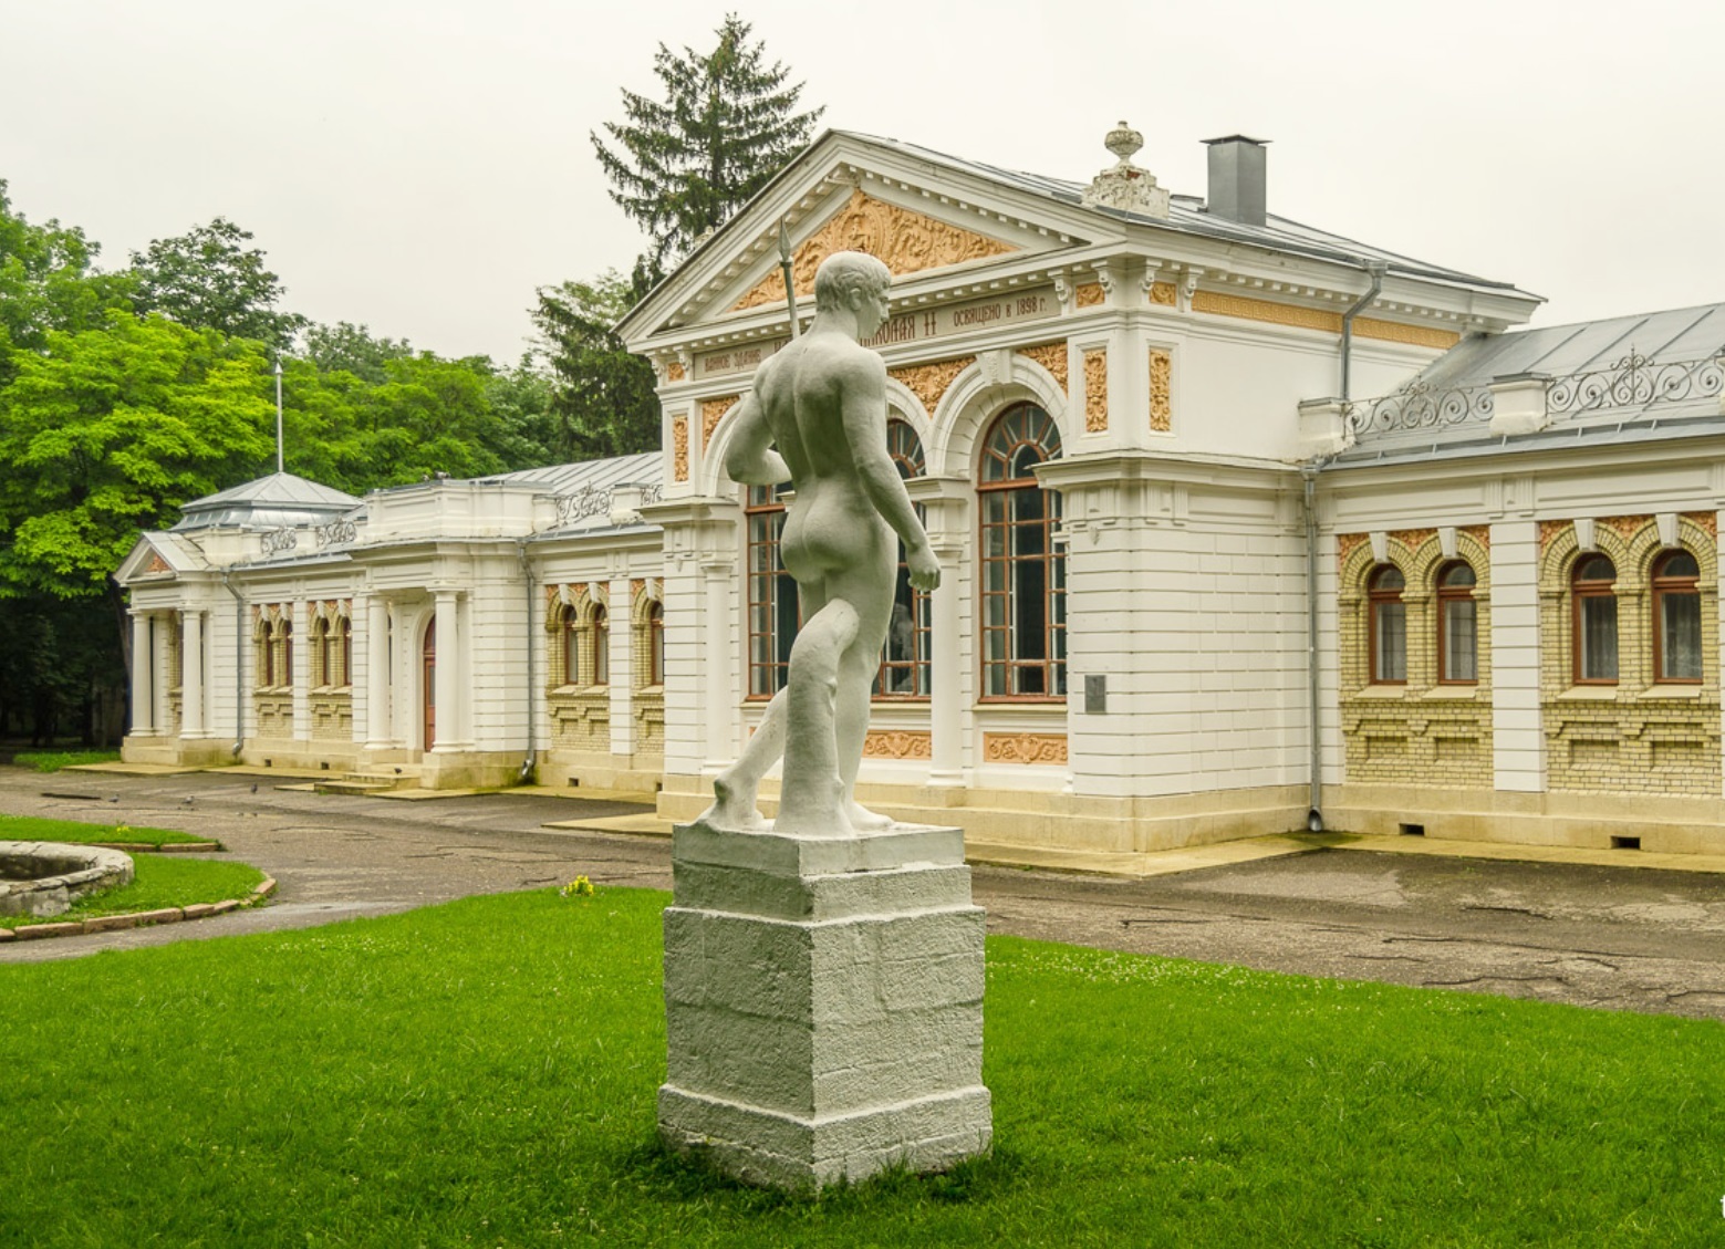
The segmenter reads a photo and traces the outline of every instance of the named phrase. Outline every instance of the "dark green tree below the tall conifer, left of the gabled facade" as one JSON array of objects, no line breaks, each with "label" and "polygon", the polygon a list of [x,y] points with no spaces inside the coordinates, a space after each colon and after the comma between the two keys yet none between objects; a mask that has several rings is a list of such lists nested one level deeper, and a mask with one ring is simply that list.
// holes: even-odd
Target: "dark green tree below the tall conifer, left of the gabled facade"
[{"label": "dark green tree below the tall conifer, left of the gabled facade", "polygon": [[533,324],[552,376],[552,462],[633,455],[659,447],[652,366],[631,355],[612,326],[630,309],[630,288],[605,271],[593,281],[542,286]]}]

